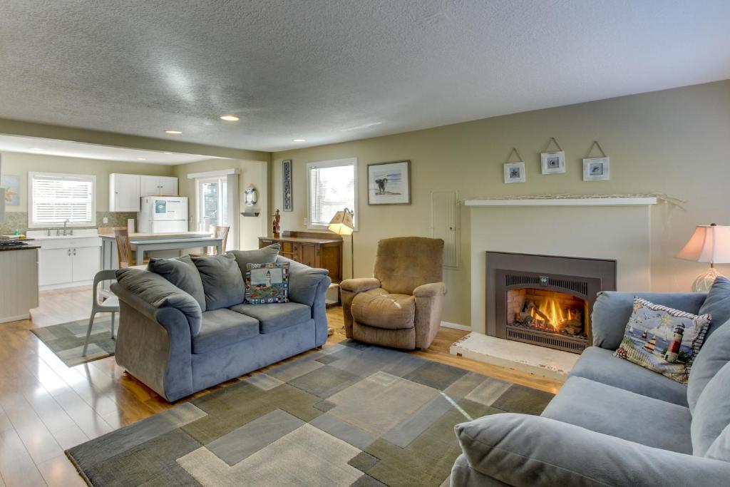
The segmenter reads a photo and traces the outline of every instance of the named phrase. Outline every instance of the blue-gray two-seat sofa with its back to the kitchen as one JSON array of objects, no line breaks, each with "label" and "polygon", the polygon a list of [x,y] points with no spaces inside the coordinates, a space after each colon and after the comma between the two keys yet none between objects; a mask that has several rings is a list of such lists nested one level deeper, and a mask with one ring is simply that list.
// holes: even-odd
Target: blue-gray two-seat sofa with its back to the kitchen
[{"label": "blue-gray two-seat sofa with its back to the kitchen", "polygon": [[280,256],[276,261],[290,263],[290,302],[204,312],[201,302],[161,275],[118,270],[112,285],[121,306],[117,363],[173,402],[322,346],[327,271]]}]

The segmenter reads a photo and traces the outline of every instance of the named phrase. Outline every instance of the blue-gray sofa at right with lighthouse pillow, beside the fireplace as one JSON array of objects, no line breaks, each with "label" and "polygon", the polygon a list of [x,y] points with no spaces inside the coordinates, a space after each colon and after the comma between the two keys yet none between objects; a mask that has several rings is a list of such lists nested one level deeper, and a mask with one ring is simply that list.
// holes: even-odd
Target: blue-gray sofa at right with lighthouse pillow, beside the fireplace
[{"label": "blue-gray sofa at right with lighthouse pillow, beside the fireplace", "polygon": [[[721,283],[721,299],[600,294],[594,346],[542,415],[500,413],[456,426],[464,453],[451,485],[730,486],[729,283]],[[612,356],[634,295],[695,314],[712,312],[688,386]]]}]

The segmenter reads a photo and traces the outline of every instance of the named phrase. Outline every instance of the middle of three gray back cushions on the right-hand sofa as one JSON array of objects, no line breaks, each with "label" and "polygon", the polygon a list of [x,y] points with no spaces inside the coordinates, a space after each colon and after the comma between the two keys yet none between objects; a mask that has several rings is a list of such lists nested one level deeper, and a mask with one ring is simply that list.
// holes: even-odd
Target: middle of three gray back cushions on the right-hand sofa
[{"label": "middle of three gray back cushions on the right-hand sofa", "polygon": [[712,377],[730,361],[730,322],[715,329],[712,339],[705,339],[702,350],[692,364],[687,384],[687,401],[694,414],[700,394]]}]

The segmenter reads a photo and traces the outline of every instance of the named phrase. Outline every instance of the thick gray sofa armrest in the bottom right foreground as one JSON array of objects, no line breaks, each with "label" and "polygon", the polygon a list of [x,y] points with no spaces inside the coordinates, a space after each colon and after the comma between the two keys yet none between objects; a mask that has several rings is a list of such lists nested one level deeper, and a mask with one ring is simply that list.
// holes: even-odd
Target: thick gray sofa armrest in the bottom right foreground
[{"label": "thick gray sofa armrest in the bottom right foreground", "polygon": [[540,416],[461,423],[469,465],[511,486],[723,486],[730,463],[675,453]]}]

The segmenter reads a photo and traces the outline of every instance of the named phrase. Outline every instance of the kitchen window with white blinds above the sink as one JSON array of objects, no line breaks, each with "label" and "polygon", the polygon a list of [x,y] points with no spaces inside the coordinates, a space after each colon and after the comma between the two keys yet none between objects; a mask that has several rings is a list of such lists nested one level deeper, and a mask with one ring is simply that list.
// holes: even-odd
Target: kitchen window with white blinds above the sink
[{"label": "kitchen window with white blinds above the sink", "polygon": [[30,226],[96,225],[95,176],[28,173]]}]

